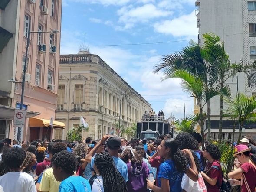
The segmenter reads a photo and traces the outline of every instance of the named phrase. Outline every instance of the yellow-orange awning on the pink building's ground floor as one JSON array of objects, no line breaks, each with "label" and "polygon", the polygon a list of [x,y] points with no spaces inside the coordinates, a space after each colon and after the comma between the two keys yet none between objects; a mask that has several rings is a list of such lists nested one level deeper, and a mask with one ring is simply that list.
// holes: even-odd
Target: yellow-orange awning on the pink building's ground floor
[{"label": "yellow-orange awning on the pink building's ground floor", "polygon": [[[50,120],[49,119],[42,119],[42,118],[30,118],[29,120],[29,127],[49,127]],[[53,128],[64,129],[65,124],[60,121],[53,121]]]}]

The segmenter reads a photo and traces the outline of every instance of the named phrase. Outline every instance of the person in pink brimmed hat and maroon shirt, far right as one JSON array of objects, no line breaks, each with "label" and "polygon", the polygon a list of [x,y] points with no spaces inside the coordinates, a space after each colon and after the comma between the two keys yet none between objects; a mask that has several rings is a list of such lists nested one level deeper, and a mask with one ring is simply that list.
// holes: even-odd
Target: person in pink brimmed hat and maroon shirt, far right
[{"label": "person in pink brimmed hat and maroon shirt, far right", "polygon": [[241,166],[235,171],[229,172],[228,177],[232,179],[241,179],[242,192],[254,192],[256,186],[256,156],[250,153],[250,148],[244,144],[235,147],[236,157]]}]

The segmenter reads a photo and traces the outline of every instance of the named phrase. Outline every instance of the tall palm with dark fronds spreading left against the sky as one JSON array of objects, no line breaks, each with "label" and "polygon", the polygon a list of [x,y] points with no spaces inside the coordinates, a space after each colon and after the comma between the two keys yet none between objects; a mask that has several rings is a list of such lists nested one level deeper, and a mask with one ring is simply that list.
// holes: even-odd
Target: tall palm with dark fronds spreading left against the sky
[{"label": "tall palm with dark fronds spreading left against the sky", "polygon": [[[212,87],[209,84],[210,67],[207,63],[207,55],[196,42],[190,41],[189,46],[182,49],[181,52],[175,52],[171,55],[166,55],[162,59],[162,63],[154,67],[154,72],[164,70],[164,79],[169,78],[168,73],[176,70],[184,69],[195,77],[200,77],[204,83],[206,90]],[[166,73],[167,72],[167,73]],[[208,140],[210,140],[210,101],[207,101],[207,127],[208,127]]]}]

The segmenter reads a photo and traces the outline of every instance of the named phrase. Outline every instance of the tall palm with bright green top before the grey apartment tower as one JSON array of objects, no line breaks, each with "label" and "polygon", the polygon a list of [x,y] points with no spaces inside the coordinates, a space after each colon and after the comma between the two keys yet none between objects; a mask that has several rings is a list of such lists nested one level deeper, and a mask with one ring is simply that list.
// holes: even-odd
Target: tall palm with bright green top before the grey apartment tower
[{"label": "tall palm with bright green top before the grey apartment tower", "polygon": [[[210,84],[215,85],[217,88],[223,89],[226,81],[234,77],[237,73],[243,72],[248,78],[248,85],[256,82],[256,62],[251,64],[232,63],[229,60],[228,54],[224,49],[224,42],[220,37],[213,33],[203,34],[203,49],[210,63]],[[220,121],[218,140],[222,140],[222,122],[223,122],[223,95],[220,94]]]}]

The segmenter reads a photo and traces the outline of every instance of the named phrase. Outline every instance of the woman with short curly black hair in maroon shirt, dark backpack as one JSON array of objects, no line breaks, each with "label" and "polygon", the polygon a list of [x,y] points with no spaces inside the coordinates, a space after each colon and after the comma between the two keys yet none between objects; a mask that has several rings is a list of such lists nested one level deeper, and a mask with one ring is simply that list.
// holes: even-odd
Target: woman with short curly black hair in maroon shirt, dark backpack
[{"label": "woman with short curly black hair in maroon shirt, dark backpack", "polygon": [[222,169],[219,162],[221,153],[218,146],[208,143],[203,151],[203,157],[208,160],[204,172],[201,172],[207,192],[218,192],[222,184]]}]

